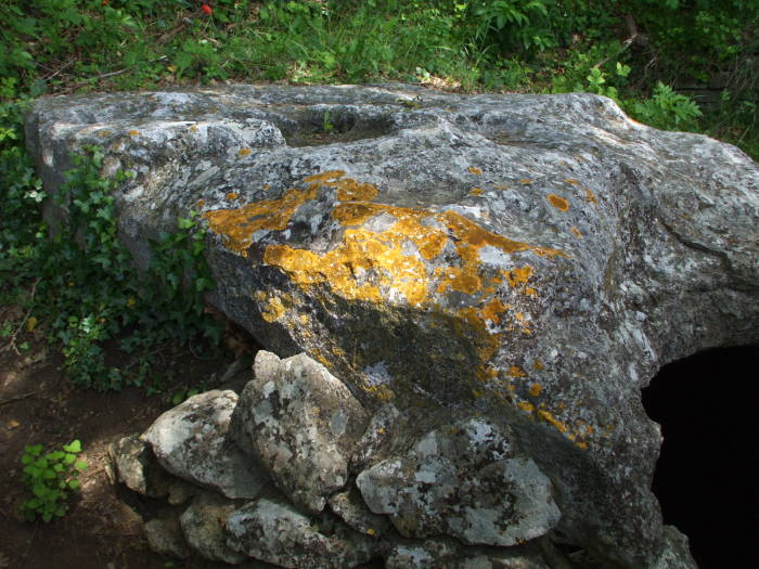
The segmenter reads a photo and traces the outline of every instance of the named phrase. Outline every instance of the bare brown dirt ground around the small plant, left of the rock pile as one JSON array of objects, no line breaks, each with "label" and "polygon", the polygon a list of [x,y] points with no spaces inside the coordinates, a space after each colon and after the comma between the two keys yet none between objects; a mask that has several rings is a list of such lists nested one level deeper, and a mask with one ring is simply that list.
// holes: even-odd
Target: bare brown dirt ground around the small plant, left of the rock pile
[{"label": "bare brown dirt ground around the small plant, left of the rock pile", "polygon": [[[10,310],[0,307],[0,322]],[[249,338],[240,340],[244,334],[239,329],[234,334],[237,357],[241,342],[255,351]],[[132,509],[119,499],[126,491],[111,481],[106,453],[114,439],[143,431],[172,406],[173,393],[201,383],[214,387],[235,354],[224,351],[202,359],[169,346],[162,354],[162,366],[173,370],[177,379],[163,395],[146,397],[137,388],[99,393],[72,385],[61,371],[61,355],[41,334],[26,334],[24,339],[29,348],[21,353],[0,341],[0,569],[209,567],[196,559],[169,559],[147,548],[141,508],[138,504]],[[108,357],[117,360],[119,353],[110,350]],[[247,374],[247,370],[241,372],[236,380],[244,382]],[[81,491],[68,500],[70,509],[50,523],[24,520],[18,513],[28,497],[21,480],[24,445],[41,443],[52,450],[74,439],[82,442],[88,468],[79,477]]]}]

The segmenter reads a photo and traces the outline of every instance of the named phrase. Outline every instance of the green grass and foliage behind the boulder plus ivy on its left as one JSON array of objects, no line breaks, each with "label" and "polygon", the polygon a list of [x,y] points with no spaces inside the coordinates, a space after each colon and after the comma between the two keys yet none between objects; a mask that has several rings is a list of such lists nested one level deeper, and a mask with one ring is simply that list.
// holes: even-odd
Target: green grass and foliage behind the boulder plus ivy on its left
[{"label": "green grass and foliage behind the boulder plus ivy on its left", "polygon": [[[23,350],[24,334],[43,328],[72,378],[97,389],[160,389],[166,377],[151,370],[163,341],[218,339],[203,311],[204,232],[192,216],[177,220],[134,275],[116,240],[121,174],[102,179],[102,153],[88,148],[67,174],[69,218],[50,237],[40,205],[54,197],[22,128],[41,94],[227,80],[588,91],[759,157],[754,0],[9,0],[0,16],[0,302],[25,311],[2,324],[1,347]],[[709,83],[711,99],[678,89]],[[329,113],[322,128],[335,128]],[[104,341],[133,362],[108,365]]]}]

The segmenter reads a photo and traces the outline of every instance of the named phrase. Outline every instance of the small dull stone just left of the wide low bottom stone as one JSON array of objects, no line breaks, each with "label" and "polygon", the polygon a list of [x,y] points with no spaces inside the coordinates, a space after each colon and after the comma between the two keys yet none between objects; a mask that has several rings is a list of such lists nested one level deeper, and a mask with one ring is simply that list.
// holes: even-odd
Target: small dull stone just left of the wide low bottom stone
[{"label": "small dull stone just left of the wide low bottom stone", "polygon": [[247,559],[247,555],[227,545],[224,525],[239,506],[240,504],[217,494],[203,492],[195,496],[179,518],[188,545],[211,561],[237,565]]}]

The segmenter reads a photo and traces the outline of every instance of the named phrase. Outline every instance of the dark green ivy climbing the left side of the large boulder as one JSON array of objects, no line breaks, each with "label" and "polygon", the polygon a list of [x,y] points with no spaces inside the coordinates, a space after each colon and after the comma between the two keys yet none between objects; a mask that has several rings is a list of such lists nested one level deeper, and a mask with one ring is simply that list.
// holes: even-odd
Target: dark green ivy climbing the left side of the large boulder
[{"label": "dark green ivy climbing the left side of the large boulder", "polygon": [[[18,104],[0,107],[0,160],[10,173],[0,180],[7,204],[0,217],[0,300],[21,303],[42,323],[76,384],[160,389],[165,378],[152,368],[162,342],[220,339],[220,325],[204,313],[204,294],[214,287],[205,229],[195,214],[178,219],[151,242],[152,261],[137,273],[117,238],[114,211],[113,189],[126,176],[102,178],[103,153],[89,147],[73,156],[75,168],[54,196],[67,216],[50,236],[39,210],[46,196],[22,146],[21,111]],[[106,364],[108,339],[133,354],[127,368]]]}]

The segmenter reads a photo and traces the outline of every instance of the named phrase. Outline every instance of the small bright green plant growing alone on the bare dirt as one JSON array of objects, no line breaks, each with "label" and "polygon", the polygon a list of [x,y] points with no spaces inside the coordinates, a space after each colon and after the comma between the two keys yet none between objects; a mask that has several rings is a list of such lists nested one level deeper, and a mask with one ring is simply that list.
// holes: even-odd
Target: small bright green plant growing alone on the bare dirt
[{"label": "small bright green plant growing alone on the bare dirt", "polygon": [[31,493],[21,506],[26,519],[35,521],[39,517],[48,522],[66,514],[68,494],[79,490],[77,477],[87,469],[87,462],[79,458],[80,453],[79,440],[47,453],[41,444],[24,448],[23,480]]}]

